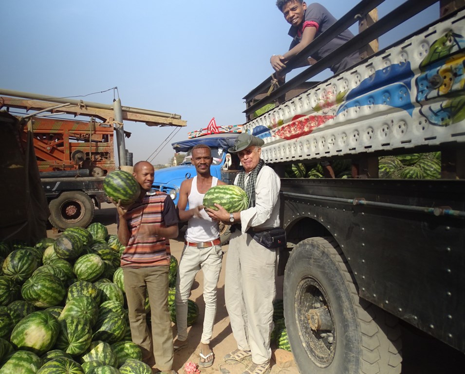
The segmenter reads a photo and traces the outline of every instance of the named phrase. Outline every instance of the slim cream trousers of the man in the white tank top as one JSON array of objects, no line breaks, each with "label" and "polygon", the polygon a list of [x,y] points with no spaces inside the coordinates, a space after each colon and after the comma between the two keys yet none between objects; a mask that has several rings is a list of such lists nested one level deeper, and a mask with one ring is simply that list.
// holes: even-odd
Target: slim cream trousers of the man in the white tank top
[{"label": "slim cream trousers of the man in the white tank top", "polygon": [[204,344],[210,343],[215,323],[217,286],[222,259],[223,252],[220,245],[205,248],[184,245],[178,266],[175,295],[176,325],[179,340],[184,341],[187,339],[187,300],[190,296],[190,289],[195,275],[202,269],[204,273],[205,316],[201,342]]}]

